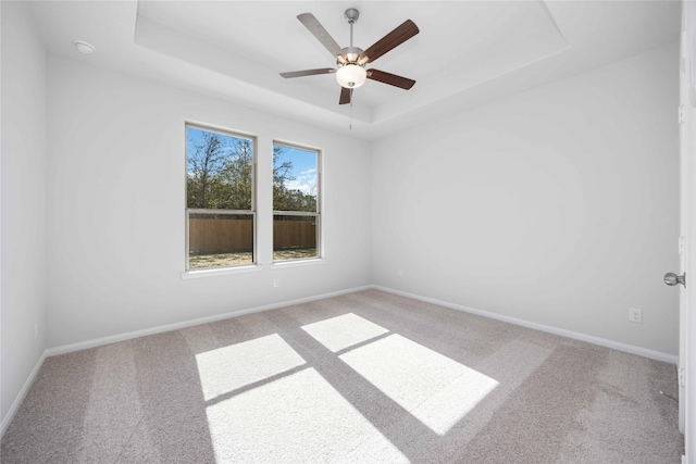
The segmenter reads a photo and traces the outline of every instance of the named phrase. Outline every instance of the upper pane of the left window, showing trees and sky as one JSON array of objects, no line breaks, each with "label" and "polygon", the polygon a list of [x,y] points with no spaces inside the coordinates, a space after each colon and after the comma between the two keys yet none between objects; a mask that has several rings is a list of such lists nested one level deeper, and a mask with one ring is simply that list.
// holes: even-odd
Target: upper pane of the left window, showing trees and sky
[{"label": "upper pane of the left window, showing trees and sky", "polygon": [[186,206],[252,210],[253,140],[186,127]]}]

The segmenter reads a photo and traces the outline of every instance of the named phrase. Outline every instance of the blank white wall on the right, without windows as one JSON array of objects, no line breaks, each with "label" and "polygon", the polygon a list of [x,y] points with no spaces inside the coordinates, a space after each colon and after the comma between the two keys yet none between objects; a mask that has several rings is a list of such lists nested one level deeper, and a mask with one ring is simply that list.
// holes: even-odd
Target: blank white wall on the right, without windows
[{"label": "blank white wall on the right, without windows", "polygon": [[375,143],[374,284],[676,354],[678,66],[667,46]]}]

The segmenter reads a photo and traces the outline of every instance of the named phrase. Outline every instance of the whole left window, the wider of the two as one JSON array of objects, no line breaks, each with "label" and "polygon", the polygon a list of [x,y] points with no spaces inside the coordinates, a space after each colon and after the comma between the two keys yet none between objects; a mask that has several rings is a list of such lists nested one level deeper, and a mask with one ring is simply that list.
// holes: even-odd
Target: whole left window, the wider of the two
[{"label": "whole left window, the wider of the two", "polygon": [[254,139],[186,125],[186,269],[256,263]]}]

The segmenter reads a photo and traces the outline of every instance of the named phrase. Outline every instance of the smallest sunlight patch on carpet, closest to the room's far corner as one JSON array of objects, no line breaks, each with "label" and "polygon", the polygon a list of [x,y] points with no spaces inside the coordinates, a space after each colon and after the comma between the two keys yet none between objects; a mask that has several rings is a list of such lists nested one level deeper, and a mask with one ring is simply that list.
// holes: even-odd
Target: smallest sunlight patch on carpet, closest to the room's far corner
[{"label": "smallest sunlight patch on carpet, closest to the room's far corner", "polygon": [[302,329],[334,353],[389,331],[353,313],[308,324]]}]

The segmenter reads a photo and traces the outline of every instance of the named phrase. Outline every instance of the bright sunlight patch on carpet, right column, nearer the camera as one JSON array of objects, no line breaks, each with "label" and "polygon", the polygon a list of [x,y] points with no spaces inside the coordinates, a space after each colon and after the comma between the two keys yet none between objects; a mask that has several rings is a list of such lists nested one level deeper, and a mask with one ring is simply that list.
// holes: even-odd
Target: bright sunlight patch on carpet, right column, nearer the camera
[{"label": "bright sunlight patch on carpet, right column, nearer the camera", "polygon": [[397,334],[339,358],[440,436],[499,385]]}]

